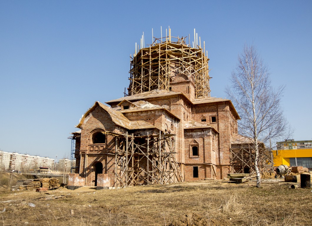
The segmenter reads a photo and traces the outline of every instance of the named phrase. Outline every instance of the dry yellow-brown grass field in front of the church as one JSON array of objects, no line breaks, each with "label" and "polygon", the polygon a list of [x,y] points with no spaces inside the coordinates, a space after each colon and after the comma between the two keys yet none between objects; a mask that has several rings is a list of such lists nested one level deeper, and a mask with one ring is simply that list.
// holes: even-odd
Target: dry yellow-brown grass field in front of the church
[{"label": "dry yellow-brown grass field in front of the church", "polygon": [[4,191],[0,226],[312,225],[311,189],[289,186],[278,179],[259,189],[205,180],[113,190]]}]

